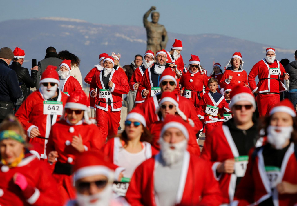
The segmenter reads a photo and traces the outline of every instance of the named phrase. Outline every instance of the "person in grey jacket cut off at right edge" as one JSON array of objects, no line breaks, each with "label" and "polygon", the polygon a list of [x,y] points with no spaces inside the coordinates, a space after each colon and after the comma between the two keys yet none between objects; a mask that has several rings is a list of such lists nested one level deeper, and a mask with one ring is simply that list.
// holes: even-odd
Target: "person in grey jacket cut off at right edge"
[{"label": "person in grey jacket cut off at right edge", "polygon": [[294,55],[295,61],[292,61],[285,67],[286,72],[290,75],[289,99],[296,107],[297,104],[297,50]]}]

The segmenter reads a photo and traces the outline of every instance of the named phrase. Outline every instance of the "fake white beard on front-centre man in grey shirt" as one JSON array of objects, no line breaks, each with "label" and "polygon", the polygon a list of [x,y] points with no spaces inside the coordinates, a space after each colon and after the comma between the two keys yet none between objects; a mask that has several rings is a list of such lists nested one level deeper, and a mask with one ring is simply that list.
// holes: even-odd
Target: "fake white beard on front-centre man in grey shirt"
[{"label": "fake white beard on front-centre man in grey shirt", "polygon": [[[187,140],[170,144],[168,142],[165,142],[162,137],[160,137],[159,139],[159,144],[161,155],[166,165],[172,165],[181,161],[188,146]],[[170,147],[174,147],[175,149],[171,149]]]}]

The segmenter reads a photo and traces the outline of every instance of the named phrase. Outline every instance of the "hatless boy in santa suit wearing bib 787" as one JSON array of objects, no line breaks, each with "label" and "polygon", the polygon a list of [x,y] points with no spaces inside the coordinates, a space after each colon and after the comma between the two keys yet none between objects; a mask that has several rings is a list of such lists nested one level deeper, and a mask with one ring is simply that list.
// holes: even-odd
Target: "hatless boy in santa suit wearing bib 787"
[{"label": "hatless boy in santa suit wearing bib 787", "polygon": [[218,126],[221,126],[225,121],[226,113],[230,117],[229,104],[226,102],[225,97],[217,92],[218,80],[214,77],[211,77],[208,80],[209,92],[201,98],[198,104],[198,116],[204,115],[204,124],[205,124],[205,137],[208,137],[208,134],[211,130],[215,129]]}]

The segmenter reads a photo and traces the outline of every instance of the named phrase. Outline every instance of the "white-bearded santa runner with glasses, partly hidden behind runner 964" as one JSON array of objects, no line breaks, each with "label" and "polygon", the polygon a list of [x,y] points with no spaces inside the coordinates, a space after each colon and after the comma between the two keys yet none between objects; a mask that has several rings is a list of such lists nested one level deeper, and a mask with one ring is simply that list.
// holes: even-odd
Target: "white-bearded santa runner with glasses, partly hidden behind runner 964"
[{"label": "white-bearded santa runner with glasses, partly hidden behind runner 964", "polygon": [[[147,68],[150,68],[155,62],[154,56],[155,56],[154,52],[152,52],[151,50],[146,51],[144,55],[143,66],[139,66],[138,68],[135,69],[129,81],[130,90],[138,91],[139,83],[143,76],[143,73],[146,71]],[[135,107],[140,105],[138,103],[143,103],[143,102],[144,102],[144,99],[141,97],[141,93],[137,92],[135,97]]]}]

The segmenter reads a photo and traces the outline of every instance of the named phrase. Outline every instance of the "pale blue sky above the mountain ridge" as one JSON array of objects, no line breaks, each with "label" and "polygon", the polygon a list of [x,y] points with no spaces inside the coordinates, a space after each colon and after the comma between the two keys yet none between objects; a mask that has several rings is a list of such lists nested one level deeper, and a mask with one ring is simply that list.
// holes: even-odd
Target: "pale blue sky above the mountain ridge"
[{"label": "pale blue sky above the mountain ridge", "polygon": [[159,23],[169,32],[222,34],[295,50],[296,4],[296,0],[14,0],[1,1],[0,20],[55,16],[143,26],[143,14],[154,5],[161,14]]}]

